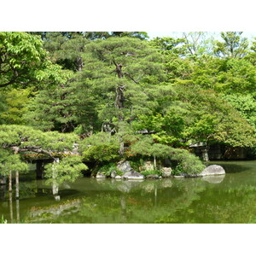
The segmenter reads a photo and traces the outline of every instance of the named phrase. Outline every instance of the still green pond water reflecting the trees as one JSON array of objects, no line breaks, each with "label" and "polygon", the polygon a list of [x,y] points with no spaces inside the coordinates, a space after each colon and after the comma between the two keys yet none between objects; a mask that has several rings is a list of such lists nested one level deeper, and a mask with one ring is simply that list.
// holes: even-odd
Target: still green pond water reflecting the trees
[{"label": "still green pond water reflecting the trees", "polygon": [[256,161],[214,162],[218,177],[144,181],[82,177],[55,201],[43,181],[20,181],[20,200],[0,189],[8,223],[256,223]]}]

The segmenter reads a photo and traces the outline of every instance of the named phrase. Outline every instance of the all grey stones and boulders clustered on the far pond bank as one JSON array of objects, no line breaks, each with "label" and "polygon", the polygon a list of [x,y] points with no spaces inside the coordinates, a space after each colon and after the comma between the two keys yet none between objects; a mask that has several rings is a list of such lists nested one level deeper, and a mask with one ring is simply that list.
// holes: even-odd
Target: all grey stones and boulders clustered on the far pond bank
[{"label": "all grey stones and boulders clustered on the far pond bank", "polygon": [[[116,171],[111,172],[111,177],[115,179],[132,179],[132,180],[138,180],[138,179],[155,179],[155,178],[162,178],[162,177],[205,177],[205,176],[215,176],[215,175],[223,175],[225,174],[224,168],[222,166],[218,165],[212,165],[208,166],[204,169],[201,173],[196,174],[187,174],[187,173],[180,173],[178,176],[172,175],[172,168],[171,167],[162,167],[160,172],[161,175],[158,176],[156,174],[149,174],[147,177],[145,177],[141,171],[149,171],[153,170],[154,166],[153,164],[148,161],[144,163],[144,166],[141,166],[139,169],[140,172],[133,171],[133,169],[130,166],[129,161],[120,161],[117,165],[117,169],[123,173],[122,176],[117,175]],[[106,176],[102,172],[98,172],[96,174],[96,178],[105,178]]]}]

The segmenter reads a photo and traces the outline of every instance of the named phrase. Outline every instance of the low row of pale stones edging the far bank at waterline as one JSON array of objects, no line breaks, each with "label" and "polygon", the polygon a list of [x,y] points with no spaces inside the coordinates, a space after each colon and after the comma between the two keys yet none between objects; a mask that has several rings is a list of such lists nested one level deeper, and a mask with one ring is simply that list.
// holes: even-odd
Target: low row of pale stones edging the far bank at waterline
[{"label": "low row of pale stones edging the far bank at waterline", "polygon": [[[127,167],[127,164],[126,164],[126,167]],[[137,180],[137,179],[144,179],[144,178],[155,179],[155,178],[161,178],[161,177],[176,177],[176,178],[204,177],[204,176],[215,176],[215,175],[224,175],[225,174],[224,168],[222,166],[218,166],[218,165],[207,166],[200,173],[195,173],[195,174],[181,173],[178,176],[172,175],[172,168],[168,168],[168,167],[162,168],[162,176],[158,176],[156,174],[149,174],[147,177],[145,177],[142,173],[133,171],[131,166],[129,168],[126,168],[126,170],[124,170],[124,171],[121,170],[121,171],[122,172],[125,171],[122,176],[116,175],[116,172],[113,171],[113,172],[111,172],[110,177],[116,178],[116,179],[135,179],[135,180]],[[106,176],[102,172],[98,172],[96,174],[96,178],[105,178],[105,177]]]}]

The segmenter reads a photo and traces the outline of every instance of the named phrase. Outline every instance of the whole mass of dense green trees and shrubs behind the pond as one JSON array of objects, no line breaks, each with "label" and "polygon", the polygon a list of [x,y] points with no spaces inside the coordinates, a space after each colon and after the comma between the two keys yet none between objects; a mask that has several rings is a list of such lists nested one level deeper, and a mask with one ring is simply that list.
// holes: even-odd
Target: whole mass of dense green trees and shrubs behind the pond
[{"label": "whole mass of dense green trees and shrubs behind the pond", "polygon": [[191,143],[255,148],[256,43],[220,38],[1,32],[0,173],[38,155],[54,161],[55,183],[79,177],[82,161],[107,170],[135,156],[195,173]]}]

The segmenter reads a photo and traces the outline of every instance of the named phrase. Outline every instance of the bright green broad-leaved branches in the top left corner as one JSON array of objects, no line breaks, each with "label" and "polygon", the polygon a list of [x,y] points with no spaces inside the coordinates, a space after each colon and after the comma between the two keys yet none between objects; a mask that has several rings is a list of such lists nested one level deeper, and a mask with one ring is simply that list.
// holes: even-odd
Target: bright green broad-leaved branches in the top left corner
[{"label": "bright green broad-leaved branches in the top left corner", "polygon": [[67,78],[61,67],[53,65],[43,42],[25,32],[0,33],[0,87],[26,86],[47,80],[62,83]]}]

